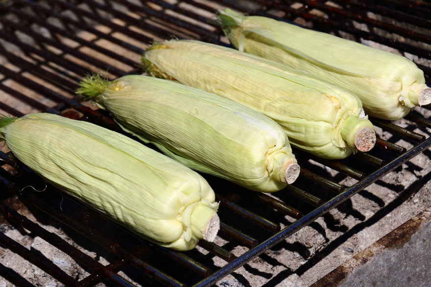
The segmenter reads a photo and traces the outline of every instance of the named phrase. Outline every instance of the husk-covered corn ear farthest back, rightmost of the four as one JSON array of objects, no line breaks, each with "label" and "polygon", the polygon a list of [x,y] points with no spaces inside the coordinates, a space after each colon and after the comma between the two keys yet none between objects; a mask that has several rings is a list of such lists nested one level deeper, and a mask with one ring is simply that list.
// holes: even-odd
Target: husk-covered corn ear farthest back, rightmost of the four
[{"label": "husk-covered corn ear farthest back, rightmost of the four", "polygon": [[431,103],[424,73],[405,57],[327,33],[226,9],[220,24],[240,51],[310,72],[358,96],[365,112],[398,120]]}]

